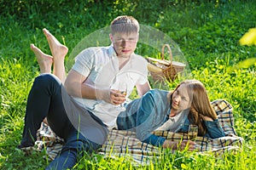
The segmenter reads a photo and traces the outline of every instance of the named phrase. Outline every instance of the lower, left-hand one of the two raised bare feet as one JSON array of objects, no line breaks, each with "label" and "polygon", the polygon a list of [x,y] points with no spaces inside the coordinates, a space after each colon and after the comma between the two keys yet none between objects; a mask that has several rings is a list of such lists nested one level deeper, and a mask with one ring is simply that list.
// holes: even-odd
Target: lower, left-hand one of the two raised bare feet
[{"label": "lower, left-hand one of the two raised bare feet", "polygon": [[30,48],[34,52],[37,57],[38,65],[40,68],[40,73],[50,73],[51,72],[51,65],[53,63],[53,57],[44,54],[39,48],[37,48],[34,44],[30,45]]}]

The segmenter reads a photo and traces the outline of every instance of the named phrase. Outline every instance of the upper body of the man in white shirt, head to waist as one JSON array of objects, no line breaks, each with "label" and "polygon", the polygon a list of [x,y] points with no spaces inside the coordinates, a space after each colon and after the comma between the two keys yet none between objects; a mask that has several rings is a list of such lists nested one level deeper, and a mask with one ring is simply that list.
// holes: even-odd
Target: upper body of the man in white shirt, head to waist
[{"label": "upper body of the man in white shirt, head to waist", "polygon": [[109,93],[115,83],[125,82],[128,96],[134,86],[139,96],[149,90],[148,63],[142,56],[134,54],[138,31],[137,20],[130,16],[119,16],[113,20],[109,35],[112,45],[87,48],[81,52],[65,82],[67,93],[110,128],[116,127],[119,115],[114,105],[125,101],[125,96],[117,93],[119,89]]}]

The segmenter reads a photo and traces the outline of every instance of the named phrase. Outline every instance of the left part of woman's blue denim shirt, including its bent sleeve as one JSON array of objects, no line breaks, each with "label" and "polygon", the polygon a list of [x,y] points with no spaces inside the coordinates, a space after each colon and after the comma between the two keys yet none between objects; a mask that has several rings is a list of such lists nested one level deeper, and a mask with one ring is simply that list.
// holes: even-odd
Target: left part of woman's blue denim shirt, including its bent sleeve
[{"label": "left part of woman's blue denim shirt, including its bent sleeve", "polygon": [[168,93],[168,91],[153,89],[142,98],[131,101],[117,118],[118,129],[135,131],[137,139],[143,142],[162,144],[165,139],[156,137],[151,132],[164,123],[166,115],[170,112]]}]

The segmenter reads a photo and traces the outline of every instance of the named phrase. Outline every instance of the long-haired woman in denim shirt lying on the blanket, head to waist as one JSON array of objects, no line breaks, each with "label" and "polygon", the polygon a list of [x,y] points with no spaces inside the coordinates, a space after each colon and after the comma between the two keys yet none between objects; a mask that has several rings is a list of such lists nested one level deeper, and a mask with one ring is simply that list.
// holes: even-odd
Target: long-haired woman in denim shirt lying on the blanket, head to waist
[{"label": "long-haired woman in denim shirt lying on the blanket, head to waist", "polygon": [[[173,92],[152,89],[141,99],[126,105],[117,119],[120,130],[136,131],[137,139],[164,148],[177,148],[177,142],[152,134],[154,130],[188,132],[189,124],[196,124],[199,136],[212,139],[223,137],[218,118],[212,108],[204,85],[197,80],[187,80],[177,85]],[[189,143],[189,150],[195,148],[192,141],[183,141],[181,147]]]}]

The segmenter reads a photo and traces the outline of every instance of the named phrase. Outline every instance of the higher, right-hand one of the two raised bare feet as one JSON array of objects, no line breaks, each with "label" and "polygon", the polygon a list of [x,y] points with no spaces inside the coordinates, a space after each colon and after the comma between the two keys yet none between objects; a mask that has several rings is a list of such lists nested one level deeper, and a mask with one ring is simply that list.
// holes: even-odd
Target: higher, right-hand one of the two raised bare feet
[{"label": "higher, right-hand one of the two raised bare feet", "polygon": [[65,58],[68,48],[61,44],[46,28],[43,29],[44,35],[47,38],[49,43],[49,48],[52,56],[55,59],[63,59]]}]

